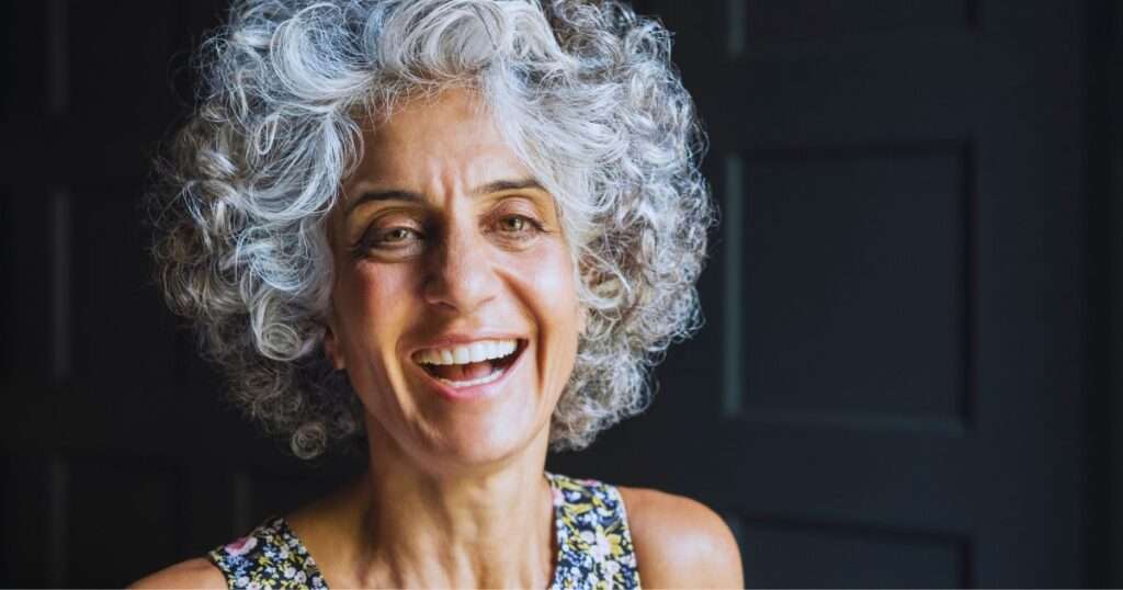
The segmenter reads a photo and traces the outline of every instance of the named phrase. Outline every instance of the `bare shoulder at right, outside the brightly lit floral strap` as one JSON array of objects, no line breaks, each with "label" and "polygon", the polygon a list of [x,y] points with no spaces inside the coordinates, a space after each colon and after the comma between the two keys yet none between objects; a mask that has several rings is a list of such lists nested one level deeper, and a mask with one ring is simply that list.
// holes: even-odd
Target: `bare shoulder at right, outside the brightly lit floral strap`
[{"label": "bare shoulder at right, outside the brightly lit floral strap", "polygon": [[743,588],[741,552],[725,521],[684,496],[619,487],[640,583],[650,588]]}]

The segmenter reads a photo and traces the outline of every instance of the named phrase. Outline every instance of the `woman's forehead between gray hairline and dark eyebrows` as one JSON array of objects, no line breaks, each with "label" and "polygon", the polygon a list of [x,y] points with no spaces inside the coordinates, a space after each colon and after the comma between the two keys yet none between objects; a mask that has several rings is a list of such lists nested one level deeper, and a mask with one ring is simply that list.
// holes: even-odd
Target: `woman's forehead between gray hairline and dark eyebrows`
[{"label": "woman's forehead between gray hairline and dark eyebrows", "polygon": [[389,118],[365,125],[363,143],[363,160],[348,185],[423,189],[529,175],[486,106],[467,89],[407,101]]}]

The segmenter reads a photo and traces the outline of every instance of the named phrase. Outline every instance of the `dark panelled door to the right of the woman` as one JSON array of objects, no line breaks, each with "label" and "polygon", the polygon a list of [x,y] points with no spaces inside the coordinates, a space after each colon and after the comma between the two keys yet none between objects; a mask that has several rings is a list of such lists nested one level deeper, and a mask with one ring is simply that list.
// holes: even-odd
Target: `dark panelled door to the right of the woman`
[{"label": "dark panelled door to the right of the woman", "polygon": [[1081,2],[643,6],[723,219],[601,472],[721,507],[749,586],[1088,583]]}]

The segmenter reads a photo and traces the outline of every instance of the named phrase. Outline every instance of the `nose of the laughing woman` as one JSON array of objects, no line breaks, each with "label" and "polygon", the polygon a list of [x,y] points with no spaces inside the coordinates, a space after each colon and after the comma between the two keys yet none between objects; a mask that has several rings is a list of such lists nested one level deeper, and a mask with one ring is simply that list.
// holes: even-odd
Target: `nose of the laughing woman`
[{"label": "nose of the laughing woman", "polygon": [[451,227],[435,246],[428,263],[426,302],[471,314],[494,299],[500,281],[484,236],[474,228]]}]

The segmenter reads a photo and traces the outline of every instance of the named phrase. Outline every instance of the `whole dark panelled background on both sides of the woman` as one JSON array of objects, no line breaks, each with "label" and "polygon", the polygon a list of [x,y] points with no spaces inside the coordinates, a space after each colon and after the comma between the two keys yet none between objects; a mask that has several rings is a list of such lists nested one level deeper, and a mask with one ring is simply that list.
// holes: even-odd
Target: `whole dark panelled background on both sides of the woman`
[{"label": "whole dark panelled background on both sides of the woman", "polygon": [[[120,586],[350,471],[220,401],[138,202],[221,0],[0,7],[0,584]],[[1120,6],[643,0],[711,138],[707,325],[548,468],[769,587],[1123,586]]]}]

